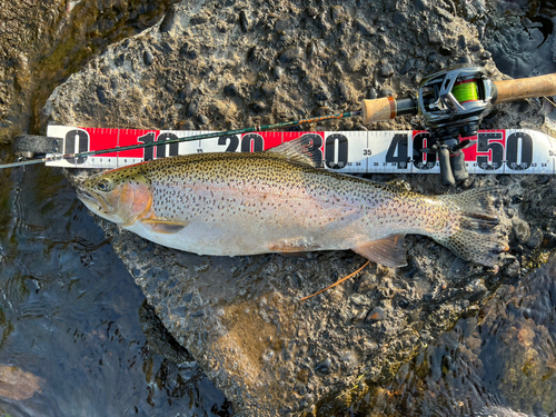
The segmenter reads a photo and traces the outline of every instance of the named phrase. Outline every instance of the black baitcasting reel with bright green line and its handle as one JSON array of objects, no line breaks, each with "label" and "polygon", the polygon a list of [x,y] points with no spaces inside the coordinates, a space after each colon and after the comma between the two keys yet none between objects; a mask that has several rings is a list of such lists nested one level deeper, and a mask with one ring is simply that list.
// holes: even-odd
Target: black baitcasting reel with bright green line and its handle
[{"label": "black baitcasting reel with bright green line and its handle", "polygon": [[435,142],[425,152],[437,152],[443,185],[469,177],[463,148],[471,145],[479,123],[497,98],[497,88],[483,67],[457,66],[423,79],[418,96],[425,128]]}]

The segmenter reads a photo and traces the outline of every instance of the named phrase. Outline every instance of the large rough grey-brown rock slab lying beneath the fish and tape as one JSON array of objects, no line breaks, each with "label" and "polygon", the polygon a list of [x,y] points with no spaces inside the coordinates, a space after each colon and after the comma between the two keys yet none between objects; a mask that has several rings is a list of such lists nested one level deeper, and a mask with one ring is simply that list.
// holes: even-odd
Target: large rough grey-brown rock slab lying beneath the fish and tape
[{"label": "large rough grey-brown rock slab lying beneath the fish and tape", "polygon": [[[424,76],[461,59],[502,78],[477,27],[453,4],[186,0],[152,29],[71,76],[52,93],[46,116],[69,126],[230,129],[356,109],[363,98],[404,97]],[[306,129],[353,130],[358,122]],[[499,106],[484,127],[542,125],[540,107],[530,100]],[[367,128],[413,127],[401,118]],[[436,176],[373,177],[400,178],[423,193],[455,191]],[[200,257],[105,220],[99,225],[163,326],[237,415],[329,415],[364,395],[354,389],[359,381],[386,380],[457,319],[475,314],[500,285],[546,258],[554,245],[555,179],[471,176],[460,188],[488,183],[507,188],[500,231],[510,250],[498,274],[411,236],[407,267],[373,265],[307,301],[299,298],[365,260],[350,251],[305,259]]]}]

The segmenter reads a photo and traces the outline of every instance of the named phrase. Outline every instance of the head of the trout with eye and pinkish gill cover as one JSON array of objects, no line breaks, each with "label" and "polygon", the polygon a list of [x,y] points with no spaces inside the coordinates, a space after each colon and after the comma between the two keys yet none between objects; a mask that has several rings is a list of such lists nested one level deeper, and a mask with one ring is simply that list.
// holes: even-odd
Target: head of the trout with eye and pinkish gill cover
[{"label": "head of the trout with eye and pinkish gill cover", "polygon": [[86,179],[78,186],[78,198],[96,215],[120,225],[131,225],[151,206],[146,178],[138,172],[116,169]]}]

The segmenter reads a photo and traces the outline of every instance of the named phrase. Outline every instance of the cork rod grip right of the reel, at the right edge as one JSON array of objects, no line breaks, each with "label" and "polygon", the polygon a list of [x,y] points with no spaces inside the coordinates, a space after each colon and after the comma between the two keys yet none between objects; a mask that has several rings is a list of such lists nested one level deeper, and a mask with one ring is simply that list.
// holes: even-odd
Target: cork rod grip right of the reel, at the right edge
[{"label": "cork rod grip right of the reel, at the right edge", "polygon": [[497,103],[556,95],[556,73],[517,80],[494,81],[494,83],[498,90]]}]

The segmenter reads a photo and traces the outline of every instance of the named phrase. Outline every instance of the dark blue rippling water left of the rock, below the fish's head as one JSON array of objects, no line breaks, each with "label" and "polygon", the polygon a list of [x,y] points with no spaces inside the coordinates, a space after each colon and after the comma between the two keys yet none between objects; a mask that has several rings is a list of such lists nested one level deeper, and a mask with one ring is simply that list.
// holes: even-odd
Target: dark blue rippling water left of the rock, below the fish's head
[{"label": "dark blue rippling water left of the rock, below the fish's head", "polygon": [[145,297],[61,172],[0,176],[0,364],[40,378],[42,390],[0,397],[0,414],[229,415],[195,365],[151,351]]}]

